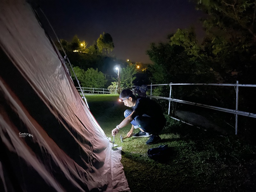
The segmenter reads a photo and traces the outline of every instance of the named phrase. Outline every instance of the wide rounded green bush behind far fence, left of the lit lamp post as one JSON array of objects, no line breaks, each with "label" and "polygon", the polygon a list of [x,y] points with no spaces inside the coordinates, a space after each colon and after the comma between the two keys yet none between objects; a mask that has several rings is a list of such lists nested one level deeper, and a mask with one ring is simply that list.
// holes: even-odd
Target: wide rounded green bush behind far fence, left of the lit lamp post
[{"label": "wide rounded green bush behind far fence, left of the lit lamp post", "polygon": [[84,74],[83,86],[91,88],[103,88],[107,83],[104,74],[98,71],[98,68],[94,70],[93,68],[88,68]]}]

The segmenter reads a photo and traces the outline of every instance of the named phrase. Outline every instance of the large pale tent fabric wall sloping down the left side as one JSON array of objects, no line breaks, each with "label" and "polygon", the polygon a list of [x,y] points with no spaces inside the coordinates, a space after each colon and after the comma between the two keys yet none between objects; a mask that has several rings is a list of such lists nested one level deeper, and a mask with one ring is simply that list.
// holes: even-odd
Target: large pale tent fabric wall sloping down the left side
[{"label": "large pale tent fabric wall sloping down the left side", "polygon": [[0,2],[0,191],[130,191],[26,1]]}]

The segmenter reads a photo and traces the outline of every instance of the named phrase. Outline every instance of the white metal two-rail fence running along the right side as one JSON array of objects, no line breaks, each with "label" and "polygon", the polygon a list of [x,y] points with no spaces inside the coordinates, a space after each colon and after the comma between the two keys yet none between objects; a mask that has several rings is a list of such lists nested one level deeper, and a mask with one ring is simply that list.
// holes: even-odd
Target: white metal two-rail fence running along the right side
[{"label": "white metal two-rail fence running along the right side", "polygon": [[[160,85],[169,85],[170,86],[170,95],[169,97],[156,97],[152,95],[152,86],[160,86]],[[213,85],[213,86],[233,86],[235,87],[235,91],[236,91],[236,109],[227,109],[227,108],[221,108],[221,107],[215,107],[215,106],[210,106],[210,105],[204,105],[201,103],[194,103],[194,102],[190,102],[190,101],[185,101],[185,100],[179,100],[179,99],[172,99],[171,98],[171,93],[172,93],[172,86],[173,85]],[[227,112],[227,113],[233,113],[236,115],[236,135],[237,135],[237,124],[238,124],[238,115],[242,115],[242,116],[247,116],[247,117],[253,117],[256,118],[256,114],[254,113],[249,113],[249,112],[244,112],[244,111],[239,111],[238,110],[238,91],[239,91],[239,87],[256,87],[256,85],[254,84],[239,84],[238,81],[236,82],[236,84],[203,84],[203,83],[181,83],[181,84],[150,84],[148,85],[150,86],[150,95],[148,95],[148,97],[151,98],[156,98],[156,99],[165,99],[165,100],[169,100],[169,109],[168,109],[168,115],[170,114],[170,107],[171,107],[171,101],[174,102],[179,102],[179,103],[184,103],[184,104],[189,104],[189,105],[194,105],[194,106],[199,106],[199,107],[204,107],[204,108],[210,108],[213,110],[218,110],[218,111],[223,111],[223,112]]]}]

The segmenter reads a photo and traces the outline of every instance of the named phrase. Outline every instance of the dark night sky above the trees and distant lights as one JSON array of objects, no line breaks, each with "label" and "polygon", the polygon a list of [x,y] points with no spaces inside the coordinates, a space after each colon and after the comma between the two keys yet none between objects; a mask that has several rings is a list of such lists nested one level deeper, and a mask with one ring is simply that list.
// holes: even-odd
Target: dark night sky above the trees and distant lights
[{"label": "dark night sky above the trees and distant lights", "polygon": [[167,35],[178,28],[194,26],[198,40],[204,34],[199,21],[203,13],[188,0],[47,0],[40,4],[60,39],[71,41],[77,34],[89,47],[104,31],[113,38],[115,56],[133,62],[150,63],[146,55],[150,43],[166,42]]}]

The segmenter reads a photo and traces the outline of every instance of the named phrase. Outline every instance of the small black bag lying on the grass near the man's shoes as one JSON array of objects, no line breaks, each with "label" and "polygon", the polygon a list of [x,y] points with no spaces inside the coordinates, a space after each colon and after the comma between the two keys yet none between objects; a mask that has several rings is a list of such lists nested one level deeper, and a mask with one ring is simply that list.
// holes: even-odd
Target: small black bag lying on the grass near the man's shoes
[{"label": "small black bag lying on the grass near the man's shoes", "polygon": [[155,161],[166,161],[171,156],[168,145],[159,145],[157,148],[148,149],[148,157]]}]

